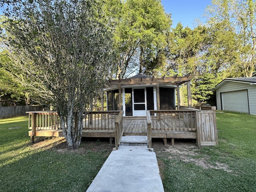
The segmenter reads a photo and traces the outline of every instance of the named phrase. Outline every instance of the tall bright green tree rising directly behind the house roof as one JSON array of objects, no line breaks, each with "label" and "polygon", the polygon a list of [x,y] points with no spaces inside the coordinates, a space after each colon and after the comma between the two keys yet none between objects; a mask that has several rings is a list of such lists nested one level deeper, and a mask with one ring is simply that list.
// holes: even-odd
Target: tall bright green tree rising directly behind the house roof
[{"label": "tall bright green tree rising directly behind the house roof", "polygon": [[118,8],[116,5],[114,10],[121,13],[114,12],[118,18],[114,34],[115,74],[116,78],[123,78],[134,70],[147,70],[159,50],[167,46],[171,19],[159,0],[126,0]]}]

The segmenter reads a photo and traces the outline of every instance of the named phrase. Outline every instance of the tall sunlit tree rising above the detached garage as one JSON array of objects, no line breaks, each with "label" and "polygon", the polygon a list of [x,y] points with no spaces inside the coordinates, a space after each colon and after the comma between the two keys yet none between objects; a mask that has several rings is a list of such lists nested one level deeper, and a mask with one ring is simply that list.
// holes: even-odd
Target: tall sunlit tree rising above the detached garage
[{"label": "tall sunlit tree rising above the detached garage", "polygon": [[[213,37],[209,58],[235,76],[256,70],[256,3],[253,0],[213,0],[206,16]],[[241,70],[242,69],[242,70]]]}]

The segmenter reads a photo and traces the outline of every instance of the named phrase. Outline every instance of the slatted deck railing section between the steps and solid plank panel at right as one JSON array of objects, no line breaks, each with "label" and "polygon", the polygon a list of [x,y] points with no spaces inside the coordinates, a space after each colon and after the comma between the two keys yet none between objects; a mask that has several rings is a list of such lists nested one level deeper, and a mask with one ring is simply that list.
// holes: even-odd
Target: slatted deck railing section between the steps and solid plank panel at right
[{"label": "slatted deck railing section between the steps and solid plank panel at right", "polygon": [[196,131],[197,110],[149,110],[152,130]]}]

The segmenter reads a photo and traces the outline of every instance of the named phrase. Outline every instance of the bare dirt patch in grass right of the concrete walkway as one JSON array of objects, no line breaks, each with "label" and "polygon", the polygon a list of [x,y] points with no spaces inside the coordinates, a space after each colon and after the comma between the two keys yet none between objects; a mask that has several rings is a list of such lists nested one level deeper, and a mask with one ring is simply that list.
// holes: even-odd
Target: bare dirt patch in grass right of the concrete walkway
[{"label": "bare dirt patch in grass right of the concrete walkway", "polygon": [[[221,169],[226,172],[232,172],[232,170],[229,169],[228,165],[224,163],[215,162],[214,165],[208,163],[210,156],[204,155],[203,157],[199,158],[198,156],[200,156],[200,147],[198,147],[195,142],[177,141],[175,142],[174,146],[171,146],[170,144],[168,144],[167,146],[164,146],[163,142],[153,142],[153,148],[156,151],[156,153],[157,152],[166,153],[166,155],[170,159],[180,159],[183,162],[194,163],[206,169],[213,168],[213,169]],[[160,166],[162,166],[161,165],[162,162],[159,164]],[[160,166],[159,166],[159,169],[161,172]]]}]

